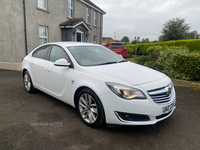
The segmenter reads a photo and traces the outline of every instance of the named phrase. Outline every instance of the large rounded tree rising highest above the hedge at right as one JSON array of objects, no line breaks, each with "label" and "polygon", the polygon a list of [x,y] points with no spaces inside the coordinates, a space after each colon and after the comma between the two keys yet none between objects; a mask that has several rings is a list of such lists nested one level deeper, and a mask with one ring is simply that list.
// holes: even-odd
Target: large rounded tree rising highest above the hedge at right
[{"label": "large rounded tree rising highest above the hedge at right", "polygon": [[162,41],[186,39],[189,29],[190,26],[185,23],[185,19],[174,18],[169,20],[165,22],[162,29]]}]

